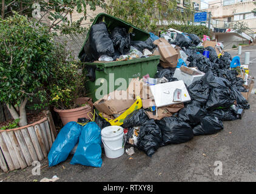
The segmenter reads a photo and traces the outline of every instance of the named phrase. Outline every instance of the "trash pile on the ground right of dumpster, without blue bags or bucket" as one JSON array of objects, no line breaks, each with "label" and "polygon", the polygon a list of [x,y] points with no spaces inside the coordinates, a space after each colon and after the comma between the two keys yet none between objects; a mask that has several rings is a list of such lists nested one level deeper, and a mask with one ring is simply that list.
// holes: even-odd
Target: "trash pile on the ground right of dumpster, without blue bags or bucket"
[{"label": "trash pile on the ground right of dumpster, without blue bags or bucket", "polygon": [[161,37],[150,33],[157,46],[153,55],[161,56],[155,78],[134,78],[126,91],[115,90],[94,103],[99,117],[121,125],[126,142],[148,156],[160,146],[218,133],[223,121],[241,119],[254,84],[244,82],[240,67],[230,68],[232,57],[220,42],[178,32]]}]

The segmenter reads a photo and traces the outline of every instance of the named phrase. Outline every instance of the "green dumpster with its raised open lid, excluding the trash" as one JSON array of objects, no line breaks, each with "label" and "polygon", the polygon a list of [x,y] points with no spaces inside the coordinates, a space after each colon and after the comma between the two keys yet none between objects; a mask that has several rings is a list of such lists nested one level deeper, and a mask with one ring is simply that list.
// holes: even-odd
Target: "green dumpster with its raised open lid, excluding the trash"
[{"label": "green dumpster with its raised open lid, excluding the trash", "polygon": [[[150,36],[146,31],[105,13],[100,13],[96,16],[93,24],[98,24],[102,21],[106,22],[109,32],[115,27],[124,27],[127,29],[127,32],[135,33],[132,39],[133,41],[146,41]],[[87,44],[89,33],[90,30],[79,52],[78,58],[81,58],[84,54],[84,45]],[[83,75],[87,76],[85,85],[87,96],[92,98],[93,102],[95,102],[102,96],[113,92],[113,90],[126,90],[132,78],[142,78],[144,75],[147,75],[147,73],[150,78],[153,78],[155,73],[157,73],[157,65],[159,62],[160,56],[149,56],[147,58],[130,59],[127,61],[84,62]],[[124,80],[126,84],[123,84]],[[126,88],[124,88],[125,86]]]}]

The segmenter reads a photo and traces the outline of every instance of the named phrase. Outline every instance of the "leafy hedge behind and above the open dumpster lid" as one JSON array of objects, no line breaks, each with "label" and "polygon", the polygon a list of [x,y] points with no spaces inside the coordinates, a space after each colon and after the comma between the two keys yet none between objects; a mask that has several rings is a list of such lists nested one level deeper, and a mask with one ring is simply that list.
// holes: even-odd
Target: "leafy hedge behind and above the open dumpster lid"
[{"label": "leafy hedge behind and above the open dumpster lid", "polygon": [[192,15],[189,8],[181,12],[177,1],[164,0],[110,0],[106,9],[110,15],[147,31],[155,30],[159,21],[185,21]]}]

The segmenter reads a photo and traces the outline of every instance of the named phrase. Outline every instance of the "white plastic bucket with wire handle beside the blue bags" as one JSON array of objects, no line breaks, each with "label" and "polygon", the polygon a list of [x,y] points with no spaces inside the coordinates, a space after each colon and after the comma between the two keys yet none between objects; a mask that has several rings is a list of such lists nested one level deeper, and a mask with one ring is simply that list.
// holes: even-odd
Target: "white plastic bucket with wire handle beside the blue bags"
[{"label": "white plastic bucket with wire handle beside the blue bags", "polygon": [[126,136],[124,135],[123,127],[115,125],[105,127],[101,130],[101,140],[103,141],[107,158],[118,158],[124,154]]}]

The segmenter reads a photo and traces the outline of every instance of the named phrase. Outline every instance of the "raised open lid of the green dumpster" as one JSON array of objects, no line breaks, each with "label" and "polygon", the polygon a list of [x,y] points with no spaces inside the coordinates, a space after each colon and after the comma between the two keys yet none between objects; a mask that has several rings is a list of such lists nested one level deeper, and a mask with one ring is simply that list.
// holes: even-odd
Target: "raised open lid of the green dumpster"
[{"label": "raised open lid of the green dumpster", "polygon": [[[94,19],[92,25],[98,24],[99,22],[102,22],[102,21],[106,22],[107,29],[109,30],[109,32],[111,32],[115,27],[124,27],[126,28],[127,32],[135,33],[135,36],[132,38],[132,41],[146,41],[146,39],[150,37],[148,32],[141,30],[140,28],[137,28],[132,24],[129,24],[128,22],[125,22],[122,19],[115,18],[114,16],[110,16],[106,13],[99,13]],[[86,40],[84,41],[83,47],[79,52],[79,55],[78,55],[79,59],[84,54],[84,45],[86,45],[86,42],[89,39],[91,27],[87,33]]]}]

